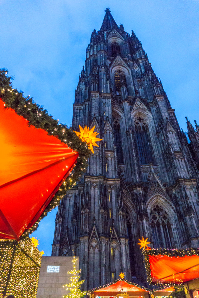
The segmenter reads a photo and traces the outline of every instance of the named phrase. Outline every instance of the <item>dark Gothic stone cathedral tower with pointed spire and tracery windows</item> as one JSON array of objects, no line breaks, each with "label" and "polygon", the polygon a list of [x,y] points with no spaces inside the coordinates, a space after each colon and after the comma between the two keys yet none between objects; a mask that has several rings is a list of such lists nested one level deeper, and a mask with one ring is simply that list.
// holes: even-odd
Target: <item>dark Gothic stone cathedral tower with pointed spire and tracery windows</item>
[{"label": "dark Gothic stone cathedral tower with pointed spire and tracery windows", "polygon": [[134,32],[107,8],[75,91],[72,129],[103,139],[58,206],[52,256],[79,256],[84,288],[119,277],[144,281],[137,245],[199,247],[199,126],[181,131]]}]

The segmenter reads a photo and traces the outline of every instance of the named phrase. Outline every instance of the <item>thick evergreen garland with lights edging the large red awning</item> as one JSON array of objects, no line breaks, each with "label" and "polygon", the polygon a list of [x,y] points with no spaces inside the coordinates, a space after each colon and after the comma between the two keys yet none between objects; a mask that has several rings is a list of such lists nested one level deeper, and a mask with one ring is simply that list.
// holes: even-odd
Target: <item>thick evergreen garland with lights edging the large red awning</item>
[{"label": "thick evergreen garland with lights edging the large red awning", "polygon": [[58,124],[58,120],[53,119],[53,117],[47,113],[47,110],[44,110],[42,106],[34,103],[33,97],[24,97],[22,91],[14,89],[12,77],[9,77],[7,74],[7,69],[0,69],[0,98],[4,101],[5,108],[12,108],[18,115],[27,119],[29,126],[33,125],[36,128],[47,131],[49,135],[58,137],[61,142],[64,142],[79,153],[71,175],[63,182],[34,226],[21,236],[26,237],[37,229],[39,221],[41,221],[49,211],[58,206],[58,202],[64,197],[66,190],[76,185],[76,181],[78,181],[81,175],[86,171],[88,165],[87,161],[91,152],[86,142],[82,142],[72,129],[67,128],[67,125]]}]

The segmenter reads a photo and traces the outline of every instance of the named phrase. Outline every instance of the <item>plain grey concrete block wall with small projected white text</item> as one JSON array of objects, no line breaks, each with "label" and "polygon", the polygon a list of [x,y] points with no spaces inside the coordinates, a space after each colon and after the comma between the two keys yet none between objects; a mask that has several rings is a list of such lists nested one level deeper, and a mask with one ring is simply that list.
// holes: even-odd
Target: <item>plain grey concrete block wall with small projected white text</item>
[{"label": "plain grey concrete block wall with small projected white text", "polygon": [[[70,283],[71,275],[67,271],[72,270],[72,259],[73,257],[42,257],[36,298],[62,298],[68,293],[63,285]],[[79,268],[79,258],[77,259]],[[48,266],[59,266],[51,267],[51,271],[59,272],[47,272]]]}]

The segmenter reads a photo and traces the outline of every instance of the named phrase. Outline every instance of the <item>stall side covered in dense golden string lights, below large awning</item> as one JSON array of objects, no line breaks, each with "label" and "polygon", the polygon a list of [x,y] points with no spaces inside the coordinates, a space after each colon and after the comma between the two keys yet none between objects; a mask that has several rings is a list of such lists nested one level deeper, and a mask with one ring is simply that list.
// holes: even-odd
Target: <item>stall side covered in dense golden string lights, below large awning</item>
[{"label": "stall side covered in dense golden string lights, below large awning", "polygon": [[42,254],[30,238],[0,241],[0,257],[0,298],[36,298]]}]

